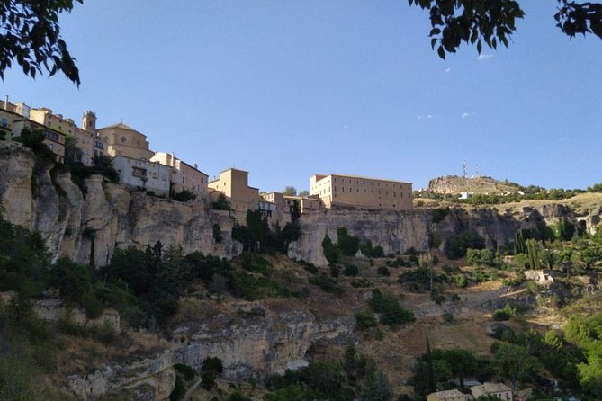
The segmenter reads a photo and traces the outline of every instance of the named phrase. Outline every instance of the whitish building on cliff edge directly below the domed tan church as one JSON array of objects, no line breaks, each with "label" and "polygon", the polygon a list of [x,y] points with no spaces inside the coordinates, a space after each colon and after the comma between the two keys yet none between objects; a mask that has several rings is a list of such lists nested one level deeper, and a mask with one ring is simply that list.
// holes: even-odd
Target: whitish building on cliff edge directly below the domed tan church
[{"label": "whitish building on cliff edge directly below the domed tan church", "polygon": [[126,156],[116,156],[112,165],[119,174],[119,181],[130,188],[169,196],[170,166]]}]

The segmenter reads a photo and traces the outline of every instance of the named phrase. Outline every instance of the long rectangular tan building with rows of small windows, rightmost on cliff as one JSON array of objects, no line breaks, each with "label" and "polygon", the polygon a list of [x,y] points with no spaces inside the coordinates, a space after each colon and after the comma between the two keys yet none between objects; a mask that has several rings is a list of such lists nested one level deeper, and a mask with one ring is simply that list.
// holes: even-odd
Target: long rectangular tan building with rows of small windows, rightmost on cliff
[{"label": "long rectangular tan building with rows of small windows, rightmost on cliff", "polygon": [[310,193],[327,208],[412,209],[412,184],[348,174],[316,174],[310,178]]}]

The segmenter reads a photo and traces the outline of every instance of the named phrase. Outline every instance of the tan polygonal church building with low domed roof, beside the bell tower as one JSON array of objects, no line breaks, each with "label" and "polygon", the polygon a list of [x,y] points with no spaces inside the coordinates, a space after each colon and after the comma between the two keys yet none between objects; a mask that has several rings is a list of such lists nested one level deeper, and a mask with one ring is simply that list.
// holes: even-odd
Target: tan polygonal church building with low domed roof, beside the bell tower
[{"label": "tan polygonal church building with low domed roof, beside the bell tower", "polygon": [[98,129],[98,135],[108,144],[109,156],[150,160],[155,155],[148,149],[147,136],[122,122]]}]

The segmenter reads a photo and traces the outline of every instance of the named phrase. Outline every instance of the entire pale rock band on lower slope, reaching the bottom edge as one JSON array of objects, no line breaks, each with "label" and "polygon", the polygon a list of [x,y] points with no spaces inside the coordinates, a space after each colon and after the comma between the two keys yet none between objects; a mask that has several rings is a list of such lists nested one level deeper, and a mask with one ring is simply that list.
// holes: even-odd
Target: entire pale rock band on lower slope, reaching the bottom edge
[{"label": "entire pale rock band on lower slope, reaching the bottom edge", "polygon": [[164,400],[175,386],[176,363],[200,371],[206,358],[217,357],[224,378],[234,381],[264,378],[285,369],[306,365],[305,355],[317,342],[345,344],[355,341],[355,319],[341,317],[317,322],[305,312],[242,319],[219,315],[203,322],[182,325],[173,332],[170,349],[157,356],[127,364],[109,363],[86,375],[70,376],[71,390],[83,400]]}]

